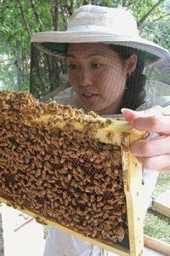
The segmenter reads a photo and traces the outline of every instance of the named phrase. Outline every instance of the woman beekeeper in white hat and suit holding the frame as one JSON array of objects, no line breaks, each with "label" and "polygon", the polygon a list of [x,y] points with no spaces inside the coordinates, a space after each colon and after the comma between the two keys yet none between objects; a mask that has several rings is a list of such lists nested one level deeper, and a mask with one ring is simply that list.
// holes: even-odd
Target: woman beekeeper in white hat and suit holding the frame
[{"label": "woman beekeeper in white hat and suit holding the frame", "polygon": [[[169,67],[167,49],[141,38],[129,11],[95,5],[77,9],[65,32],[36,33],[31,43],[48,55],[65,56],[69,85],[55,100],[100,115],[122,113],[135,129],[150,131],[147,140],[131,144],[144,166],[145,212],[158,173],[170,171],[170,118],[161,107],[168,97],[163,91],[158,96],[165,86],[156,77]],[[44,256],[106,254],[111,255],[54,228],[44,250]]]}]

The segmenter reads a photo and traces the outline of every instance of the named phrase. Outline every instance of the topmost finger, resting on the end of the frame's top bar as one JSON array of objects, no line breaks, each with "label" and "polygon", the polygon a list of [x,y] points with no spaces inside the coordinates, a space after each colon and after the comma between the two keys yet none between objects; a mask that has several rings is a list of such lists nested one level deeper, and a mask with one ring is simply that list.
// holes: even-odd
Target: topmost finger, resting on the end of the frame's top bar
[{"label": "topmost finger, resting on the end of the frame's top bar", "polygon": [[170,134],[170,116],[164,115],[161,107],[139,112],[125,109],[122,112],[133,128],[139,131],[156,131]]}]

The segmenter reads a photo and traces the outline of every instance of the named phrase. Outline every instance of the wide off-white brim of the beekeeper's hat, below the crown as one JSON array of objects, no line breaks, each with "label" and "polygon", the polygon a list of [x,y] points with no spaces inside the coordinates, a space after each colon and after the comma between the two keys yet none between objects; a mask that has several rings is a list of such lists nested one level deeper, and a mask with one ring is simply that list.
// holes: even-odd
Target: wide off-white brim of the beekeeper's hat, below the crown
[{"label": "wide off-white brim of the beekeeper's hat, below the crown", "polygon": [[170,53],[167,49],[147,39],[103,32],[37,32],[32,35],[31,43],[42,44],[44,48],[56,51],[59,55],[66,52],[68,44],[120,44],[139,49],[143,60],[170,59]]}]

